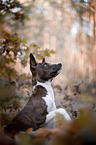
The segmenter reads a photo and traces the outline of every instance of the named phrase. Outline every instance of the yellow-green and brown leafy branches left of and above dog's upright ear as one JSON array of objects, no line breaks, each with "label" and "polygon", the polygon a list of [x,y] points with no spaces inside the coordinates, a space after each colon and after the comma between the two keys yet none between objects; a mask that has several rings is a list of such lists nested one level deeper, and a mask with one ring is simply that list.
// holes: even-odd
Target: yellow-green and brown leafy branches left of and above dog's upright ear
[{"label": "yellow-green and brown leafy branches left of and above dog's upright ear", "polygon": [[19,58],[22,66],[25,67],[31,49],[39,60],[43,57],[50,56],[50,54],[54,54],[53,50],[47,48],[42,50],[34,43],[28,46],[26,40],[21,39],[17,34],[8,34],[7,39],[0,42],[0,77],[8,78],[9,82],[11,81],[11,77],[16,78],[18,76],[14,67],[16,60]]}]

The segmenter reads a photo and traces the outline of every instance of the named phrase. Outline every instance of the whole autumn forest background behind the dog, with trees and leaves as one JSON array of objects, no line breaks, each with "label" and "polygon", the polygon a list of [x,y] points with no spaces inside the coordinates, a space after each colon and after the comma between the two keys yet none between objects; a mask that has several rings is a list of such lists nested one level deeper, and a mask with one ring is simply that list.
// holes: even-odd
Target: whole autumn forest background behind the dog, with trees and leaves
[{"label": "whole autumn forest background behind the dog, with trees and leaves", "polygon": [[0,1],[1,128],[32,93],[31,52],[38,62],[63,64],[53,81],[57,107],[72,118],[82,104],[96,110],[95,0]]}]

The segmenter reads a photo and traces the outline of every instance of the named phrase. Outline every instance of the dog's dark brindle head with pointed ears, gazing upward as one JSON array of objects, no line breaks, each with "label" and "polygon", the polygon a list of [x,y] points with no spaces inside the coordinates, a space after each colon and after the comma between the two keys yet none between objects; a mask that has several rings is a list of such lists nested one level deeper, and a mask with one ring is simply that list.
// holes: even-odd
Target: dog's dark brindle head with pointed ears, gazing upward
[{"label": "dog's dark brindle head with pointed ears, gazing upward", "polygon": [[43,58],[42,63],[37,63],[33,54],[30,53],[30,70],[33,74],[33,85],[35,85],[37,81],[52,81],[52,79],[60,73],[61,68],[61,63],[49,64],[45,62],[45,58]]}]

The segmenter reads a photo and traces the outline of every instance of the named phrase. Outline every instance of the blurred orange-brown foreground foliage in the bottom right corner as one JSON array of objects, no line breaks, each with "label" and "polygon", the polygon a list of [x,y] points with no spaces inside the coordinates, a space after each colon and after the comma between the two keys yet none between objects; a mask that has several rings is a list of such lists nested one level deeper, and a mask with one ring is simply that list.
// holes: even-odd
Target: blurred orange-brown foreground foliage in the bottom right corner
[{"label": "blurred orange-brown foreground foliage in the bottom right corner", "polygon": [[[59,117],[57,119],[61,127],[59,126],[53,130],[38,130],[36,136],[42,138],[41,142],[47,142],[49,139],[50,141],[52,140],[52,144],[56,145],[96,144],[96,117],[87,112],[86,109],[80,110],[79,118],[72,122],[66,122]],[[46,140],[44,140],[45,138]]]}]

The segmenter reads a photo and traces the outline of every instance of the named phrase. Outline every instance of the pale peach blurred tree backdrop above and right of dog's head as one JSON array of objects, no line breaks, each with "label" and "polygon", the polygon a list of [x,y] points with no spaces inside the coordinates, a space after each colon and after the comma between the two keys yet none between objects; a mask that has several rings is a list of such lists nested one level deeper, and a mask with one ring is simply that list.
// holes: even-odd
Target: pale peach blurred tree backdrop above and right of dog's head
[{"label": "pale peach blurred tree backdrop above and right of dog's head", "polygon": [[[47,60],[63,64],[57,84],[88,79],[88,84],[96,87],[95,5],[92,0],[34,1],[30,20],[17,25],[16,32],[28,43],[55,51]],[[23,71],[29,72],[29,68]]]}]

